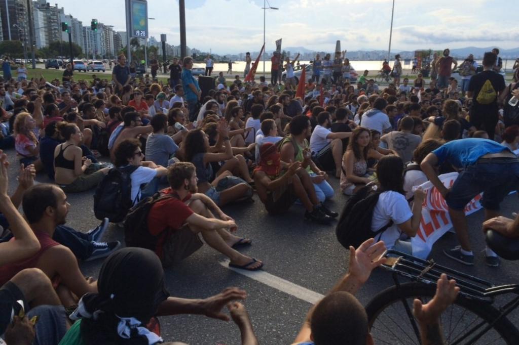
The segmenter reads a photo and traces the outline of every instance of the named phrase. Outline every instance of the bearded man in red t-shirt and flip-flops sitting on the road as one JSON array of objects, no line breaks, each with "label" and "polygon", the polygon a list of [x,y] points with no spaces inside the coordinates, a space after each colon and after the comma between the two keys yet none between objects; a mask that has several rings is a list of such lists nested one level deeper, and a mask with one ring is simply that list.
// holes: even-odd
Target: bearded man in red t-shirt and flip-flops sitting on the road
[{"label": "bearded man in red t-shirt and flip-flops sitting on the road", "polygon": [[[243,255],[235,248],[250,245],[251,240],[240,238],[230,234],[236,231],[238,226],[235,221],[225,214],[207,195],[197,193],[196,168],[192,163],[179,162],[168,169],[168,182],[170,188],[163,190],[163,195],[172,197],[156,202],[148,214],[148,229],[154,236],[159,236],[163,231],[170,229],[172,236],[177,241],[175,250],[189,251],[184,246],[196,246],[198,233],[209,246],[216,249],[230,259],[229,266],[247,270],[258,270],[263,267],[260,260]],[[218,216],[214,217],[213,212]],[[175,234],[180,236],[174,236]],[[194,244],[195,243],[195,244]],[[163,264],[181,259],[179,253],[171,253],[166,249],[171,248],[168,239],[161,238],[157,243],[155,252]],[[196,249],[195,249],[196,250]],[[180,255],[180,257],[179,257]]]}]

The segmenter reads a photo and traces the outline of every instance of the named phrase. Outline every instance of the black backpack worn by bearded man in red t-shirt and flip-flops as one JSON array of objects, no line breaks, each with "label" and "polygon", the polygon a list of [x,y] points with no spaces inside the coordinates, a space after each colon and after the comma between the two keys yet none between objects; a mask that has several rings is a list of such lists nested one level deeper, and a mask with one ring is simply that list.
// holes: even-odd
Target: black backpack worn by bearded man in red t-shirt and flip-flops
[{"label": "black backpack worn by bearded man in red t-shirt and flip-flops", "polygon": [[148,229],[148,214],[156,202],[172,197],[175,196],[171,194],[161,195],[160,192],[155,193],[130,208],[124,222],[126,247],[139,247],[155,251],[159,240],[170,236],[171,229],[169,228],[159,236],[152,235]]}]

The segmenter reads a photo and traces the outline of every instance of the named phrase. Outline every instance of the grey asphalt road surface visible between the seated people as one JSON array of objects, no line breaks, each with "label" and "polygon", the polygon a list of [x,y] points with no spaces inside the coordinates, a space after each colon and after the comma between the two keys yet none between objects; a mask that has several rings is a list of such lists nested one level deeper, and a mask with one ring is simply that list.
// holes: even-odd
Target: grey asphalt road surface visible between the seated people
[{"label": "grey asphalt road surface visible between the seated people", "polygon": [[[8,150],[7,153],[11,161],[9,184],[12,192],[16,188],[18,164],[15,164],[15,151]],[[44,175],[38,175],[37,181],[48,182],[48,179]],[[344,206],[346,198],[340,194],[338,180],[331,178],[331,183],[336,195],[327,205],[339,211]],[[270,217],[256,196],[254,200],[255,202],[250,204],[225,207],[224,211],[237,221],[239,235],[253,239],[253,245],[243,252],[263,260],[264,271],[275,276],[270,277],[275,283],[279,280],[276,277],[283,279],[284,285],[281,286],[285,287],[281,289],[290,293],[271,287],[270,285],[277,286],[274,283],[266,285],[229,270],[220,263],[225,257],[209,246],[203,246],[179,265],[167,269],[166,285],[172,295],[185,298],[203,298],[216,294],[227,286],[238,286],[248,293],[244,304],[251,315],[260,342],[290,344],[311,307],[311,304],[304,300],[311,298],[301,297],[298,291],[304,290],[301,289],[303,287],[310,290],[307,293],[314,297],[315,293],[326,294],[346,272],[346,250],[337,242],[334,226],[305,222],[302,206],[294,205],[284,217]],[[67,217],[68,225],[79,231],[87,231],[99,223],[92,211],[93,191],[70,194],[69,202],[72,206]],[[517,196],[508,196],[502,204],[502,210],[503,214],[509,217],[511,212],[517,211]],[[476,253],[475,265],[464,266],[442,254],[443,249],[457,244],[452,234],[446,234],[436,243],[431,254],[434,260],[495,283],[519,281],[516,263],[503,261],[498,268],[485,265],[481,253],[484,248],[481,233],[483,212],[470,215],[468,220],[473,235],[473,250]],[[122,230],[112,224],[105,240],[122,241],[123,237]],[[81,263],[80,268],[86,276],[97,277],[101,264],[101,260]],[[290,283],[300,287],[294,287]],[[286,287],[287,285],[289,287]],[[366,304],[375,294],[390,285],[392,280],[388,272],[375,271],[370,281],[359,292],[358,298],[361,303]],[[163,338],[169,341],[214,345],[240,343],[239,330],[234,323],[199,315],[163,317],[161,327]]]}]

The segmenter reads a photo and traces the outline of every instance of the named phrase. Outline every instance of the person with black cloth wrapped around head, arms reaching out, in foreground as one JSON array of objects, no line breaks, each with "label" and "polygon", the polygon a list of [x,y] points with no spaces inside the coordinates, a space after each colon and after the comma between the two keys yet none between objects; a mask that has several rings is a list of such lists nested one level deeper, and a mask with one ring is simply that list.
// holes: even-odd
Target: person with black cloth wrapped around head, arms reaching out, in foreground
[{"label": "person with black cloth wrapped around head, arms reaching out, in foreground", "polygon": [[79,300],[70,315],[76,322],[60,345],[162,343],[156,316],[201,314],[228,321],[222,313],[227,304],[231,317],[244,322],[240,329],[248,333],[245,336],[255,339],[247,312],[234,302],[244,299],[245,291],[228,287],[205,299],[171,297],[160,260],[151,250],[125,248],[113,253],[101,267],[97,286],[98,293],[85,294]]}]

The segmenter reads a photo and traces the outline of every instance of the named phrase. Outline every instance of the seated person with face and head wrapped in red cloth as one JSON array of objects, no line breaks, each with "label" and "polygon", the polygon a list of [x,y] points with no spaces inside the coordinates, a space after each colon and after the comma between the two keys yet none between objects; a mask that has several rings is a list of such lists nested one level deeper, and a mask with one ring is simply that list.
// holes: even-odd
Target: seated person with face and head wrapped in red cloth
[{"label": "seated person with face and head wrapped in red cloth", "polygon": [[306,208],[305,219],[319,224],[329,224],[332,220],[320,210],[312,180],[301,162],[282,162],[273,143],[261,146],[260,163],[253,177],[257,194],[269,214],[282,214],[299,199]]}]

